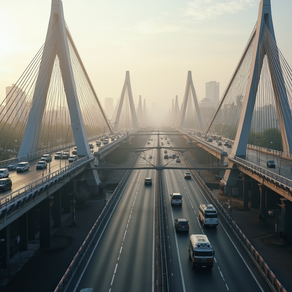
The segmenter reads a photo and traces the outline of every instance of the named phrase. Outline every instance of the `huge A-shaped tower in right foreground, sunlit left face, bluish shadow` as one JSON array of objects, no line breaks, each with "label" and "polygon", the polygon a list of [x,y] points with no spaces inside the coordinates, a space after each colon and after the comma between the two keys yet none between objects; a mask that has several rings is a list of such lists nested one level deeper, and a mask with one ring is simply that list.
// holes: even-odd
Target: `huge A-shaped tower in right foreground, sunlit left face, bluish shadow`
[{"label": "huge A-shaped tower in right foreground, sunlit left face, bluish shadow", "polygon": [[[264,54],[261,53],[260,50],[261,46],[265,45],[263,41],[265,27],[267,27],[267,29],[269,30],[274,40],[274,44],[276,44],[270,0],[260,1],[255,41],[253,44],[251,68],[246,86],[246,93],[244,95],[243,107],[239,120],[238,130],[231,152],[231,157],[246,156],[246,145],[251,128],[252,114],[256,102],[258,84],[260,81],[259,76],[262,70],[263,61],[265,57],[267,58],[267,65],[269,67],[271,81],[273,84],[273,93],[275,97],[277,114],[280,122],[284,151],[290,153],[290,149],[292,147],[292,136],[289,133],[290,131],[289,129],[292,128],[292,118],[290,107],[288,105],[287,92],[284,84],[284,77],[279,61],[279,53],[277,50],[277,46],[275,46],[275,48],[274,47],[265,48]],[[273,44],[270,45],[274,46]],[[233,162],[230,162],[228,167],[232,166]],[[231,170],[227,170],[225,172],[225,177],[228,178],[228,183],[234,184],[234,181],[230,181],[230,172]]]}]

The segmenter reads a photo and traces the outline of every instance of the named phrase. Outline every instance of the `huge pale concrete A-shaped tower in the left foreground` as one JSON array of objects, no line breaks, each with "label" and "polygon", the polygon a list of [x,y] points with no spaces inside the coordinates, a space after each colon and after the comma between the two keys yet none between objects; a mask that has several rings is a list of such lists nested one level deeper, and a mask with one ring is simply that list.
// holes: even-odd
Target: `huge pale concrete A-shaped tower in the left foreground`
[{"label": "huge pale concrete A-shaped tower in the left foreground", "polygon": [[[58,44],[48,43],[51,33],[58,25],[58,31],[60,37],[61,48]],[[77,95],[76,84],[73,75],[72,63],[69,53],[68,40],[71,46],[77,52],[74,42],[66,29],[64,12],[61,0],[52,0],[51,5],[51,15],[48,24],[48,30],[46,35],[46,43],[44,46],[44,51],[42,54],[41,65],[39,68],[39,73],[36,81],[36,86],[34,89],[32,107],[29,112],[27,119],[27,126],[23,135],[23,139],[18,152],[18,157],[26,156],[30,153],[35,153],[38,142],[39,135],[41,131],[41,123],[46,107],[46,98],[48,95],[48,88],[52,78],[53,64],[56,56],[59,59],[59,66],[62,73],[62,80],[65,90],[65,95],[67,99],[68,109],[71,117],[72,131],[74,134],[74,140],[78,148],[78,155],[92,157],[90,148],[88,146],[88,138],[86,136],[86,131],[84,127],[84,121],[81,115],[80,104]],[[78,54],[77,54],[78,55]],[[83,67],[82,61],[78,55],[79,62],[84,71],[88,84],[93,89],[90,79]],[[93,90],[94,92],[94,90]],[[97,96],[95,98],[102,108]],[[102,110],[103,118],[105,119],[107,126],[109,128],[109,122],[106,118],[104,111]],[[71,125],[70,125],[71,126]],[[95,167],[93,162],[91,167]],[[98,174],[96,170],[91,170],[91,180],[87,180],[88,185],[96,185],[99,182]]]}]

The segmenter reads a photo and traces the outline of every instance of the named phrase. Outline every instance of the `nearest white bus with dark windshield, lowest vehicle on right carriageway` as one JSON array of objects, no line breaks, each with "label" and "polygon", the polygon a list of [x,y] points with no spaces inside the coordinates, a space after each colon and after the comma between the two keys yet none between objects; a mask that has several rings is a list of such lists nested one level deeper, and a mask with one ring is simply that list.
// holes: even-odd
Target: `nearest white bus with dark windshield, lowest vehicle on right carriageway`
[{"label": "nearest white bus with dark windshield, lowest vehicle on right carriageway", "polygon": [[205,234],[192,234],[189,242],[189,257],[192,260],[192,268],[213,268],[215,251]]}]

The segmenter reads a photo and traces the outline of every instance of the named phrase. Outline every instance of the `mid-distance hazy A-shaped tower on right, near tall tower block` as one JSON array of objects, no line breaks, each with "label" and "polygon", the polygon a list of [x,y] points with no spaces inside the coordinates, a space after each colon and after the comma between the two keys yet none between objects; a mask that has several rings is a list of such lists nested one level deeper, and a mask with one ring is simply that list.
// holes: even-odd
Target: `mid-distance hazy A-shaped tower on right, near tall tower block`
[{"label": "mid-distance hazy A-shaped tower on right, near tall tower block", "polygon": [[[193,100],[191,100],[191,97],[193,98]],[[191,106],[192,101],[194,102],[193,103],[194,108],[192,108]],[[187,111],[187,106],[188,106],[188,111]],[[187,119],[188,119],[187,121],[185,120],[186,113],[187,113]],[[190,127],[190,119],[196,119],[196,124],[199,127],[199,130],[201,131],[204,130],[204,125],[203,125],[203,121],[201,117],[201,112],[199,109],[197,94],[196,94],[193,80],[192,80],[192,71],[187,72],[187,85],[185,87],[185,95],[183,99],[183,105],[180,109],[180,117],[178,120],[177,128],[181,130],[185,127]]]}]

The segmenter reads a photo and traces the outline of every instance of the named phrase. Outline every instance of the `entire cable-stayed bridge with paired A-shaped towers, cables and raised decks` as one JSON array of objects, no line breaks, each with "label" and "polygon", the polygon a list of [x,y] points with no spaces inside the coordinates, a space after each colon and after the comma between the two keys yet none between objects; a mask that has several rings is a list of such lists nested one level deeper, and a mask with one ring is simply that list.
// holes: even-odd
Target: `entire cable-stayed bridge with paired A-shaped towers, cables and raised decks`
[{"label": "entire cable-stayed bridge with paired A-shaped towers, cables and raised decks", "polygon": [[[208,143],[203,143],[201,138],[189,132],[200,132],[203,135],[232,141],[228,170],[223,175],[227,186],[230,188],[237,183],[238,169],[240,172],[248,169],[247,173],[250,175],[253,169],[254,179],[256,180],[258,176],[262,183],[261,190],[263,186],[270,187],[283,198],[291,201],[292,189],[289,180],[277,184],[280,173],[279,177],[275,177],[272,171],[262,175],[263,171],[259,168],[255,169],[255,164],[248,165],[249,149],[257,153],[265,153],[267,150],[267,157],[272,152],[276,157],[280,157],[281,153],[287,153],[290,162],[291,76],[291,69],[277,48],[270,1],[261,1],[258,22],[210,121],[206,121],[200,110],[191,71],[189,71],[180,114],[178,115],[177,98],[175,103],[173,102],[171,112],[174,123],[170,126],[179,131],[174,134],[164,129],[160,135],[165,133],[168,136],[188,136],[189,145],[196,143],[217,157],[219,160],[217,164],[223,163],[226,151],[220,147],[209,147]],[[11,86],[6,96],[6,105],[1,112],[0,121],[3,148],[1,160],[12,158],[15,162],[26,161],[41,153],[62,150],[73,145],[77,146],[78,156],[81,159],[77,163],[52,172],[49,177],[45,177],[45,180],[37,180],[35,185],[25,187],[18,192],[23,194],[24,191],[25,194],[19,197],[19,200],[13,203],[11,199],[1,202],[0,219],[18,211],[20,206],[29,200],[34,200],[35,205],[38,204],[56,191],[50,189],[56,183],[64,184],[81,172],[87,172],[88,184],[97,186],[99,178],[96,168],[118,167],[102,163],[96,166],[88,141],[99,139],[114,131],[124,131],[125,139],[128,139],[130,133],[133,135],[134,131],[145,126],[145,121],[147,121],[146,101],[144,99],[142,107],[140,98],[137,117],[129,71],[126,71],[124,86],[114,115],[112,119],[107,119],[65,23],[62,3],[53,0],[45,44],[17,83]],[[142,134],[147,135],[145,132]],[[129,144],[128,140],[127,143]],[[113,146],[102,147],[100,152],[111,147]],[[14,153],[17,153],[18,157],[13,158]],[[215,165],[211,166],[214,163],[211,162],[213,157],[209,156],[208,159],[206,164],[215,169]],[[220,165],[217,166],[221,168]],[[144,164],[137,167],[154,166]],[[178,168],[176,164],[169,164],[168,168],[171,167]],[[187,168],[181,166],[183,167]],[[124,165],[120,168],[131,167]],[[167,166],[164,167],[166,168]],[[194,168],[198,169],[199,166]],[[246,194],[246,185],[244,192]],[[40,194],[42,195],[37,199]],[[260,198],[263,201],[263,194]],[[60,201],[60,198],[58,200]],[[52,199],[48,201],[50,203]],[[57,205],[57,199],[55,202]],[[47,207],[48,205],[42,210],[49,212]],[[261,210],[266,212],[264,203],[261,204]],[[27,211],[23,208],[21,215]],[[8,220],[5,224],[9,223]],[[48,238],[48,234],[44,237]]]}]

